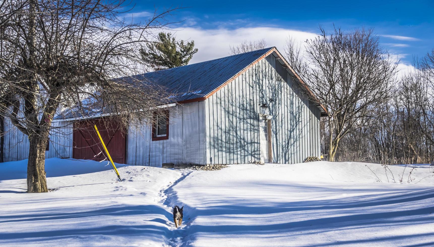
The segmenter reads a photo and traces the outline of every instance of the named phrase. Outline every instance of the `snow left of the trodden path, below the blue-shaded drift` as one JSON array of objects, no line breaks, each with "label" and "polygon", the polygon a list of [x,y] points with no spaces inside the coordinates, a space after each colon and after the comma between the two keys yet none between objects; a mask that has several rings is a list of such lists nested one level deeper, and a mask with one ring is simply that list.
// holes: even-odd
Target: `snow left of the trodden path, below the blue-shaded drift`
[{"label": "snow left of the trodden path, below the blue-shaded drift", "polygon": [[164,245],[173,226],[160,193],[181,174],[140,166],[118,170],[122,182],[113,171],[47,178],[56,190],[43,194],[23,193],[24,179],[0,181],[0,245]]}]

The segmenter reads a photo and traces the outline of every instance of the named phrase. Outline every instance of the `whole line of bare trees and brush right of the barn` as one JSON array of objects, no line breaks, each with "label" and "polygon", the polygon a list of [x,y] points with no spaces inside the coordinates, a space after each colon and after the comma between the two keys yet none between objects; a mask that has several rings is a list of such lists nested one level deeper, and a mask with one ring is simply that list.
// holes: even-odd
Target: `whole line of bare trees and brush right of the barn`
[{"label": "whole line of bare trees and brush right of the barn", "polygon": [[399,61],[371,29],[320,27],[286,59],[325,105],[322,153],[329,161],[431,163],[434,153],[434,49],[398,75]]}]

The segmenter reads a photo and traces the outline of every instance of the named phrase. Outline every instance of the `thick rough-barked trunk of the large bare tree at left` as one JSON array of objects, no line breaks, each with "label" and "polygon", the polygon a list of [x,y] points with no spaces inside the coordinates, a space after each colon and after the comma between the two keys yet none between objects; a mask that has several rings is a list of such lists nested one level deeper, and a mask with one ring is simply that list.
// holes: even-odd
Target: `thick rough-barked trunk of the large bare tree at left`
[{"label": "thick rough-barked trunk of the large bare tree at left", "polygon": [[29,137],[30,150],[27,163],[27,193],[48,192],[45,177],[45,135]]}]

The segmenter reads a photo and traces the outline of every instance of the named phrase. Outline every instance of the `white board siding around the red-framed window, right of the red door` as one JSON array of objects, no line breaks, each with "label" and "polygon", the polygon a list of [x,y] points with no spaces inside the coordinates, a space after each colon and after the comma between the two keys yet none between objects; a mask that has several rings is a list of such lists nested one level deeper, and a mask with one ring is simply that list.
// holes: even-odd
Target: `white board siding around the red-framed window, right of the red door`
[{"label": "white board siding around the red-framed window, right of the red door", "polygon": [[204,102],[169,109],[169,138],[152,141],[151,127],[135,122],[128,127],[127,164],[160,167],[163,163],[205,163]]}]

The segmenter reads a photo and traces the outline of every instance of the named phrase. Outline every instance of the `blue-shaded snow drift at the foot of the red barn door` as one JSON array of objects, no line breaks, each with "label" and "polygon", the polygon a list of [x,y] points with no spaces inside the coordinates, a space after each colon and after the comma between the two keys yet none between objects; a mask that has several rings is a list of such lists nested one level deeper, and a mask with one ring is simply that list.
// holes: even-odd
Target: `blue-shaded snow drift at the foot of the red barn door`
[{"label": "blue-shaded snow drift at the foot of the red barn door", "polygon": [[[0,163],[0,180],[27,178],[27,159]],[[116,168],[127,166],[115,163]],[[49,158],[45,160],[45,172],[48,177],[86,174],[112,170],[109,161],[77,160]]]}]

